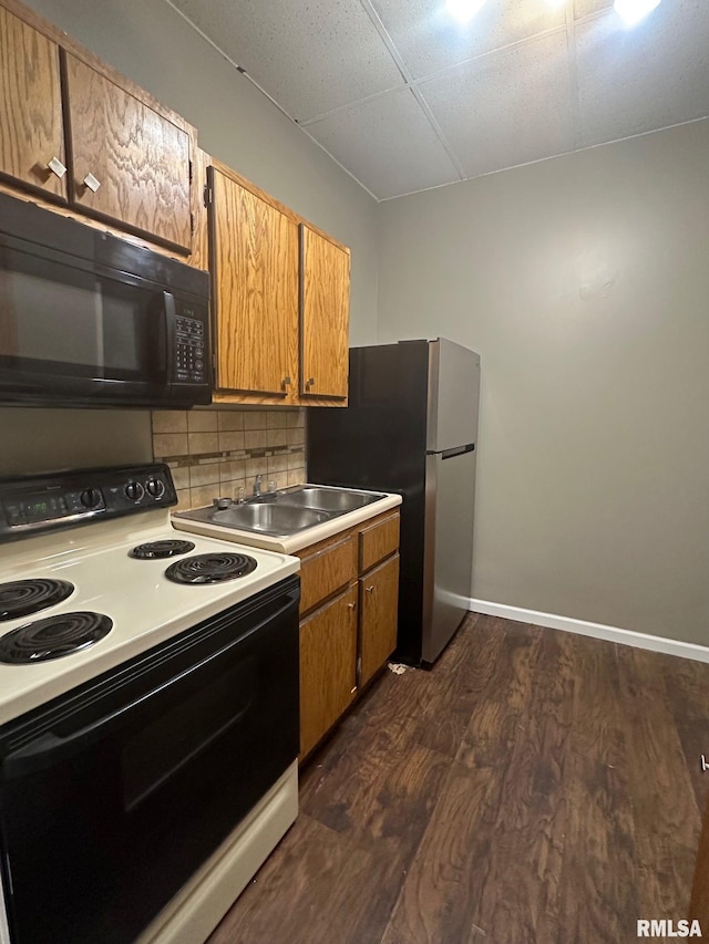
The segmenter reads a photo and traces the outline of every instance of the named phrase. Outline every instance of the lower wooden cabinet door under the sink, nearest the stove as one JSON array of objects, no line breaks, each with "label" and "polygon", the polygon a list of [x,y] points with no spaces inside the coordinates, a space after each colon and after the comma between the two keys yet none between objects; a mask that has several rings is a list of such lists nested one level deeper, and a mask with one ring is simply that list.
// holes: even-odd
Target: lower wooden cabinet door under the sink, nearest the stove
[{"label": "lower wooden cabinet door under the sink, nearest the stove", "polygon": [[300,623],[300,757],[354,696],[357,584]]}]

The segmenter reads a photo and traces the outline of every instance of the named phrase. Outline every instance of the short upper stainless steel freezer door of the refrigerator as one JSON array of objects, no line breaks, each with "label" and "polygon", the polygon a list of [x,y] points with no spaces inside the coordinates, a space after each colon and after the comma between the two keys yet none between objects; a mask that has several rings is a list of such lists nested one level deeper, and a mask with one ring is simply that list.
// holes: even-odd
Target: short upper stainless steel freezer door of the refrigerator
[{"label": "short upper stainless steel freezer door of the refrigerator", "polygon": [[477,440],[480,354],[445,338],[429,344],[427,450]]}]

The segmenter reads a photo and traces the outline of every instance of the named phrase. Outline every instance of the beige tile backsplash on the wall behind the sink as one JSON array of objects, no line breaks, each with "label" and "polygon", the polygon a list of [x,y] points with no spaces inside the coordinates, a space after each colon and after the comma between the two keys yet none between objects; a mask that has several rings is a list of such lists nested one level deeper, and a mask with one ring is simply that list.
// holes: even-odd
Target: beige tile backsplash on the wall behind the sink
[{"label": "beige tile backsplash on the wall behind the sink", "polygon": [[179,508],[306,481],[305,411],[205,407],[152,413],[153,456],[171,468]]}]

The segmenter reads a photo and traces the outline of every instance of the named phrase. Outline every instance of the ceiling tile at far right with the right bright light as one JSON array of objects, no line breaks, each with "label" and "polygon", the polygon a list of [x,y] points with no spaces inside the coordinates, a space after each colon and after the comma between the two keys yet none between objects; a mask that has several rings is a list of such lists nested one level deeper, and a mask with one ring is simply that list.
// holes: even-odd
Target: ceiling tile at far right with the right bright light
[{"label": "ceiling tile at far right with the right bright light", "polygon": [[576,28],[580,146],[709,115],[709,2],[666,0],[633,29]]}]

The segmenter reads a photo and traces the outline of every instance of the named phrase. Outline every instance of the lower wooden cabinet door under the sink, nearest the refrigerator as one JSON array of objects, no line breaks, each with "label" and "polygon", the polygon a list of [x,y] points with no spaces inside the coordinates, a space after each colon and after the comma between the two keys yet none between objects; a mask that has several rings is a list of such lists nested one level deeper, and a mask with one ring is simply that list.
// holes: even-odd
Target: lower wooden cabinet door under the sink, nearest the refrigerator
[{"label": "lower wooden cabinet door under the sink, nearest the refrigerator", "polygon": [[366,685],[397,647],[399,554],[359,579],[361,670]]}]

